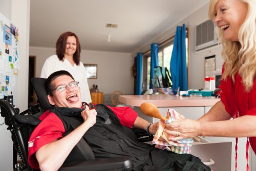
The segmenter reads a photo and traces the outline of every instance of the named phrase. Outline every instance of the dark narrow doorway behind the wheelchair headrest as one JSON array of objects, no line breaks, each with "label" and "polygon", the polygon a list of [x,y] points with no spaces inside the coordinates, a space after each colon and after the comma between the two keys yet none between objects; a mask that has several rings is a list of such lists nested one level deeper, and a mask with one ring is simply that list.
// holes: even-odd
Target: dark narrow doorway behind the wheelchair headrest
[{"label": "dark narrow doorway behind the wheelchair headrest", "polygon": [[31,78],[35,77],[35,56],[29,56],[29,93],[28,93],[28,107],[36,104],[36,96],[34,93]]}]

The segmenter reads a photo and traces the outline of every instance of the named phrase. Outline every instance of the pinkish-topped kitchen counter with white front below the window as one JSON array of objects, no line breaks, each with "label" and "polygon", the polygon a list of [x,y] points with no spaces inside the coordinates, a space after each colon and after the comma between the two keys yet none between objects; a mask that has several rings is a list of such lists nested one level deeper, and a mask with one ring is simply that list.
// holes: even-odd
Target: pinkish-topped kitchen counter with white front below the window
[{"label": "pinkish-topped kitchen counter with white front below the window", "polygon": [[207,113],[220,99],[215,97],[198,97],[198,96],[176,96],[167,94],[154,95],[120,95],[119,102],[133,106],[133,109],[140,117],[156,123],[158,119],[144,115],[140,111],[140,105],[148,102],[157,106],[160,113],[165,116],[169,108],[172,108],[184,115],[186,118],[198,119]]}]

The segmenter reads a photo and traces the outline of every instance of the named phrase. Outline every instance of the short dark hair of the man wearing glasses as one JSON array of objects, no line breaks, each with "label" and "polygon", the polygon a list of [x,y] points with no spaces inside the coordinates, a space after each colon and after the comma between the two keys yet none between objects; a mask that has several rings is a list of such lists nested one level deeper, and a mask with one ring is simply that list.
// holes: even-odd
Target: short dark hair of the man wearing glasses
[{"label": "short dark hair of the man wearing glasses", "polygon": [[55,87],[53,87],[52,85],[52,82],[53,80],[55,80],[57,77],[59,76],[70,76],[73,80],[74,77],[67,71],[67,70],[58,70],[56,72],[53,72],[46,80],[46,83],[45,83],[45,88],[46,88],[46,92],[49,94],[49,95],[52,95],[52,89],[54,89]]}]

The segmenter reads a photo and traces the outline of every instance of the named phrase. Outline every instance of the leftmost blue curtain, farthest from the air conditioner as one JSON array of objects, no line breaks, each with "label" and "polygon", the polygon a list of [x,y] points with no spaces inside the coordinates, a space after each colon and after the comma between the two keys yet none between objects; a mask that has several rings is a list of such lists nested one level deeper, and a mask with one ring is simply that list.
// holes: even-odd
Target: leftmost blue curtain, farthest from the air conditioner
[{"label": "leftmost blue curtain, farthest from the air conditioner", "polygon": [[142,91],[142,57],[141,53],[137,54],[136,95]]}]

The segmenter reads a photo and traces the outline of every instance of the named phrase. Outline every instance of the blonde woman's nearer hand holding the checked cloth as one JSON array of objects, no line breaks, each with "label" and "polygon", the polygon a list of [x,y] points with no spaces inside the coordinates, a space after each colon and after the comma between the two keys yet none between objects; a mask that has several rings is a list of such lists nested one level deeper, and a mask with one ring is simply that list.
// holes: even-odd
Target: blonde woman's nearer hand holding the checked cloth
[{"label": "blonde woman's nearer hand holding the checked cloth", "polygon": [[201,135],[201,125],[197,120],[178,119],[173,123],[166,124],[164,132],[175,136],[169,137],[169,140],[177,141],[184,138],[193,138]]}]

